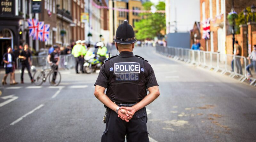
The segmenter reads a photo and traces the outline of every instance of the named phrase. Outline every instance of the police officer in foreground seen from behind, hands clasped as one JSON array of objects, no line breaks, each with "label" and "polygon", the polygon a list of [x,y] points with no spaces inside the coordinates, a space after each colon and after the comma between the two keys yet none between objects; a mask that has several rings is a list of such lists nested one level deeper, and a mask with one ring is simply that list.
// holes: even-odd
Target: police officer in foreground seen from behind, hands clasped
[{"label": "police officer in foreground seen from behind, hands clasped", "polygon": [[118,26],[114,41],[120,54],[108,58],[94,84],[94,95],[107,108],[101,141],[124,142],[126,135],[127,142],[148,142],[145,106],[160,95],[154,71],[144,58],[133,55],[136,39],[127,20]]}]

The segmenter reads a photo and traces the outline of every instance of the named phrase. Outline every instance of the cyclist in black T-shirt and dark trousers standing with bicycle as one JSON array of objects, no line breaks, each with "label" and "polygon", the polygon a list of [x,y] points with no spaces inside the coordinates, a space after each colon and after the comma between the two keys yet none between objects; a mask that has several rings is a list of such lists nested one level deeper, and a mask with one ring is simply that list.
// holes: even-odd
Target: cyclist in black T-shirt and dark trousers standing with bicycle
[{"label": "cyclist in black T-shirt and dark trousers standing with bicycle", "polygon": [[54,74],[52,76],[52,84],[55,83],[57,71],[58,71],[58,64],[60,62],[60,55],[59,55],[59,47],[57,45],[53,46],[53,52],[47,56],[47,61],[51,65],[51,68],[54,70]]}]

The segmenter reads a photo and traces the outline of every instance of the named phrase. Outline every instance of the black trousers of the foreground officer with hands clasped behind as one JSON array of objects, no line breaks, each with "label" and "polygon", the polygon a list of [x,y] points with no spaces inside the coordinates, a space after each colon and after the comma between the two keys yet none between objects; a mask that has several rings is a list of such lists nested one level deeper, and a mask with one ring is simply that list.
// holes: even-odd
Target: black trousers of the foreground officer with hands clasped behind
[{"label": "black trousers of the foreground officer with hands clasped behind", "polygon": [[[131,106],[129,106],[131,107]],[[121,120],[115,111],[108,109],[106,130],[103,132],[101,142],[149,142],[147,130],[146,108],[137,111],[130,122]]]}]

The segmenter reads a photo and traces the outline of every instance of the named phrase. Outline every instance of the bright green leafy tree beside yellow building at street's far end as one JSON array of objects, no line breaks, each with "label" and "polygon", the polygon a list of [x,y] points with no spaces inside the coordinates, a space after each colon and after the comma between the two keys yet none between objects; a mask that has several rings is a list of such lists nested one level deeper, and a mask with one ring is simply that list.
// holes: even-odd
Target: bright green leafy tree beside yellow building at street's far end
[{"label": "bright green leafy tree beside yellow building at street's far end", "polygon": [[[146,2],[143,4],[144,10],[151,10],[151,6],[154,5],[152,2]],[[156,10],[165,10],[165,3],[158,2],[154,5]],[[136,33],[136,39],[154,39],[154,37],[163,36],[160,32],[165,31],[165,13],[140,13],[142,19],[139,22],[135,22],[134,30]]]}]

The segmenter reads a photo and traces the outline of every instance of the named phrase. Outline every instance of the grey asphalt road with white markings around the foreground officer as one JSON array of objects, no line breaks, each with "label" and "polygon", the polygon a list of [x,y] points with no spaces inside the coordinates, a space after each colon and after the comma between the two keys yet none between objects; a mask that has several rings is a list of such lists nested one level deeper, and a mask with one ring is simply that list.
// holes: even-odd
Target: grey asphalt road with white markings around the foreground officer
[{"label": "grey asphalt road with white markings around the foreground officer", "polygon": [[[147,106],[150,141],[256,141],[255,87],[172,61],[154,48],[135,48],[134,54],[152,65],[160,89],[159,98]],[[72,69],[61,74],[58,87],[48,82],[36,87],[27,74],[25,84],[1,86],[1,142],[101,140],[105,109],[93,95],[98,73]]]}]

